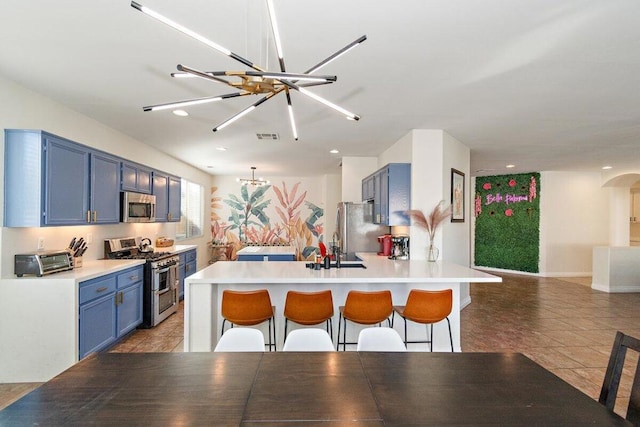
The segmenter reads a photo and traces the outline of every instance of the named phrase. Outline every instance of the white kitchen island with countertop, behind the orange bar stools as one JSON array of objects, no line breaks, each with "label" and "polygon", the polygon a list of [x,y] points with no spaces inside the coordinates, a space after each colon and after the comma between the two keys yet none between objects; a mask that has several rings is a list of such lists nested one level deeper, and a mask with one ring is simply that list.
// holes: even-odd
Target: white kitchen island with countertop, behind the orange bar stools
[{"label": "white kitchen island with countertop, behind the orange bar stools", "polygon": [[[411,289],[452,289],[453,310],[449,319],[453,343],[460,349],[460,283],[500,282],[502,279],[457,264],[424,260],[400,261],[358,254],[366,268],[331,268],[312,270],[305,262],[218,262],[200,270],[185,280],[184,350],[211,351],[220,336],[220,302],[225,289],[268,289],[271,302],[276,306],[276,333],[278,348],[284,340],[284,302],[289,290],[319,291],[331,289],[333,293],[334,341],[337,339],[338,306],[344,305],[352,290],[391,290],[393,303],[404,305]],[[394,328],[403,330],[402,319],[397,317]],[[263,326],[266,331],[266,323]],[[348,341],[355,341],[360,327],[349,323]],[[402,332],[401,332],[402,334]],[[410,339],[423,339],[424,326],[409,323]],[[265,334],[266,336],[266,334]],[[434,326],[434,350],[450,351],[446,322]],[[352,349],[355,348],[352,346]],[[424,349],[412,344],[410,350]]]}]

